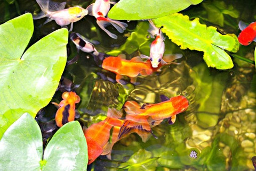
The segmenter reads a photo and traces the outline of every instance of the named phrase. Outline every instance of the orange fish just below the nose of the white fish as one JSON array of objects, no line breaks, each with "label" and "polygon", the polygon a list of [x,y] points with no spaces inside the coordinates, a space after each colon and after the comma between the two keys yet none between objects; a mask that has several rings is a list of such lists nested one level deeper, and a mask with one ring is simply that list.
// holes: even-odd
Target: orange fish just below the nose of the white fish
[{"label": "orange fish just below the nose of the white fish", "polygon": [[133,57],[130,61],[109,56],[103,60],[102,68],[116,73],[116,81],[120,84],[122,84],[120,80],[123,75],[129,76],[131,82],[135,83],[136,76],[139,74],[150,75],[153,73],[150,62],[143,62],[139,56]]}]

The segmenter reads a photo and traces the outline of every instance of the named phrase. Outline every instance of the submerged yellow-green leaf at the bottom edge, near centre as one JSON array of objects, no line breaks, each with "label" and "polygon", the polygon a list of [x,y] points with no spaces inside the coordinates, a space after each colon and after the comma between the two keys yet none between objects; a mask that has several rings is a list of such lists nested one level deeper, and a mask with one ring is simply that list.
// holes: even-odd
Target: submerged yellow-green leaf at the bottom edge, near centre
[{"label": "submerged yellow-green leaf at the bottom edge, near centre", "polygon": [[119,167],[128,170],[156,170],[157,158],[153,158],[151,152],[140,149],[126,163],[122,163]]}]

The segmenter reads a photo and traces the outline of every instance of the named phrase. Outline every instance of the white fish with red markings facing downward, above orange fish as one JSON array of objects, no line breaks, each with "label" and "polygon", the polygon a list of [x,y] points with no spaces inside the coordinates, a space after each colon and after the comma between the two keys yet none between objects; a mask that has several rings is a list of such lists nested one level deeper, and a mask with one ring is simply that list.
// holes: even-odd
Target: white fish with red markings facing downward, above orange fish
[{"label": "white fish with red markings facing downward, above orange fish", "polygon": [[[156,36],[156,38],[150,45],[150,55],[146,56],[141,54],[140,56],[141,58],[149,59],[152,64],[152,67],[156,68],[158,67],[159,63],[161,63],[162,65],[166,64],[166,62],[163,59],[165,37],[161,29],[157,28],[151,20],[148,20],[148,21],[149,21],[148,32],[150,33],[150,36],[152,38],[154,38],[154,36]],[[181,54],[173,54],[172,56],[175,56],[173,60],[179,59],[182,57]]]}]

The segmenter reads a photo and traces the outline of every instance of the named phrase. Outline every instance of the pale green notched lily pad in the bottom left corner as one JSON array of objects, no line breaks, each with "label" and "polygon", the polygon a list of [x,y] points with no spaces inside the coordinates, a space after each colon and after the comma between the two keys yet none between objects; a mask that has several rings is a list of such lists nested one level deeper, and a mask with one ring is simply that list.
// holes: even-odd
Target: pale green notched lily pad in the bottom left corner
[{"label": "pale green notched lily pad in the bottom left corner", "polygon": [[[75,143],[74,143],[75,142]],[[80,124],[70,122],[52,137],[43,153],[42,134],[35,119],[23,114],[0,140],[4,170],[86,170],[87,146]]]}]

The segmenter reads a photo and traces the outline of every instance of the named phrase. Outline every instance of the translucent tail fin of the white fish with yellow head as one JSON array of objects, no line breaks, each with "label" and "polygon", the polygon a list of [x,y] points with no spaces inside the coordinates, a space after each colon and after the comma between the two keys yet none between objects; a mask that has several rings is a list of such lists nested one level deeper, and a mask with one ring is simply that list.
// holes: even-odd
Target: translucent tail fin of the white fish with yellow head
[{"label": "translucent tail fin of the white fish with yellow head", "polygon": [[58,3],[51,0],[36,0],[36,2],[45,14],[47,14],[49,11],[53,12],[63,10],[66,5],[66,2]]}]

